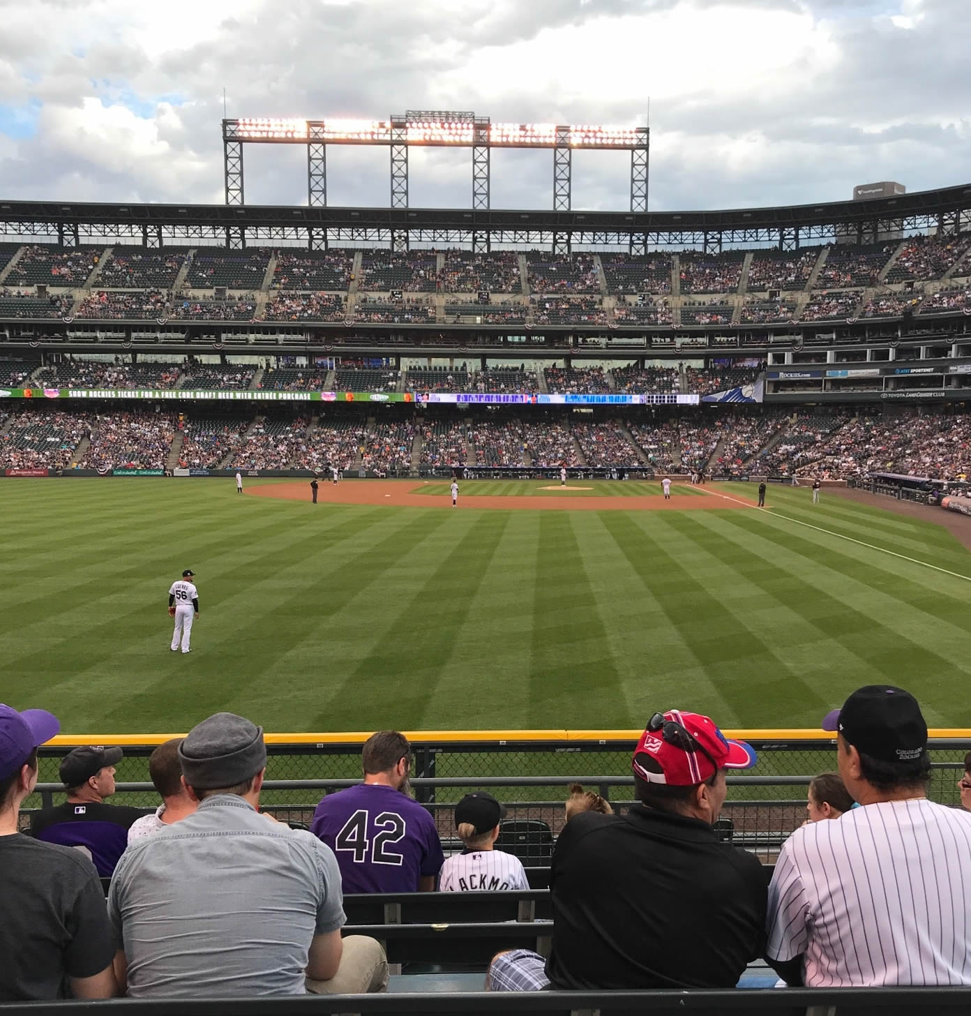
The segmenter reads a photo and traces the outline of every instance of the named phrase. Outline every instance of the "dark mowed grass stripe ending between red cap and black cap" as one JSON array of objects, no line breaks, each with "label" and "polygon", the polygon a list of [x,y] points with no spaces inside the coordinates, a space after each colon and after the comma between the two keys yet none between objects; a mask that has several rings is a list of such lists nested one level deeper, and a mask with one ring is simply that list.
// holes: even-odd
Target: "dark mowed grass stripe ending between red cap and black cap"
[{"label": "dark mowed grass stripe ending between red cap and black cap", "polygon": [[[755,635],[742,615],[716,595],[716,583],[689,571],[668,552],[664,516],[636,520],[626,512],[604,515],[604,525],[691,648],[708,680],[731,711],[727,724],[740,724],[753,702],[778,700],[782,689],[800,702],[822,704],[817,692],[770,646]],[[727,592],[727,589],[725,590]]]}]

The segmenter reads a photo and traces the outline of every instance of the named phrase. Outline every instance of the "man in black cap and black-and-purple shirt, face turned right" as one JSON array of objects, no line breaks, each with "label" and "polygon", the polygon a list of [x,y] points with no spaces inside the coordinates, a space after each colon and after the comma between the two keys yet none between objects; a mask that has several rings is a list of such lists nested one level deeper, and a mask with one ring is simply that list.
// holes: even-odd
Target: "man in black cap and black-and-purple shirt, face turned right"
[{"label": "man in black cap and black-and-purple shirt, face turned right", "polygon": [[75,748],[61,762],[61,782],[67,801],[36,812],[30,834],[48,843],[86,850],[98,874],[110,878],[128,845],[128,828],[141,818],[137,808],[106,805],[115,792],[115,763],[120,748],[84,746]]}]

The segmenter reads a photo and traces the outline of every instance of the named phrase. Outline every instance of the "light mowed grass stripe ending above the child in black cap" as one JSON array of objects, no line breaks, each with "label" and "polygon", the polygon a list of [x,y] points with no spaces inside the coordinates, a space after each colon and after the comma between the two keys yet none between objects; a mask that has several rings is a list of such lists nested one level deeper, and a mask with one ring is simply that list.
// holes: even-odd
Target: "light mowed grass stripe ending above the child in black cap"
[{"label": "light mowed grass stripe ending above the child in black cap", "polygon": [[[456,729],[480,727],[483,715],[494,718],[497,728],[522,726],[529,708],[539,518],[538,512],[509,513],[439,675],[424,727],[440,727],[446,709]],[[464,764],[461,757],[458,762]]]}]

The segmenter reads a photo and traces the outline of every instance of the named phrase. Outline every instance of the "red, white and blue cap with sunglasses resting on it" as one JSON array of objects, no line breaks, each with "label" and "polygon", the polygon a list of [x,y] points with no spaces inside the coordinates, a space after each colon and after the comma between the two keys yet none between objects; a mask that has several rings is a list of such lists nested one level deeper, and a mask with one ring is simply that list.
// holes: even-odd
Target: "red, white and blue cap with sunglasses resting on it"
[{"label": "red, white and blue cap with sunglasses resting on it", "polygon": [[[711,779],[718,769],[751,769],[758,761],[751,745],[743,741],[729,741],[708,716],[670,709],[664,713],[664,719],[679,723],[704,751],[685,751],[678,745],[665,741],[662,731],[645,731],[634,749],[631,766],[636,775],[649,783],[694,786]],[[638,761],[642,755],[651,756],[661,772],[645,769]],[[717,767],[712,766],[713,762]]]}]

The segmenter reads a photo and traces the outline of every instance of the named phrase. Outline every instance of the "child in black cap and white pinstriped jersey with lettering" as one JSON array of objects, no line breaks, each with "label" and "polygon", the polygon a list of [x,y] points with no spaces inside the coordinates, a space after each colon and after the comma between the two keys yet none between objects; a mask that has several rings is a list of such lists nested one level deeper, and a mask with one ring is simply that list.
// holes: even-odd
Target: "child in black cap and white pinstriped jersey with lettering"
[{"label": "child in black cap and white pinstriped jersey with lettering", "polygon": [[505,811],[483,790],[466,793],[455,806],[455,828],[465,849],[442,865],[439,875],[442,892],[529,888],[522,862],[494,845]]}]

